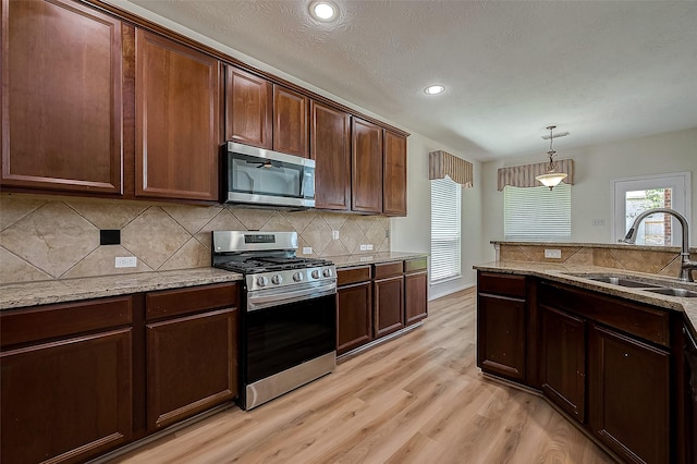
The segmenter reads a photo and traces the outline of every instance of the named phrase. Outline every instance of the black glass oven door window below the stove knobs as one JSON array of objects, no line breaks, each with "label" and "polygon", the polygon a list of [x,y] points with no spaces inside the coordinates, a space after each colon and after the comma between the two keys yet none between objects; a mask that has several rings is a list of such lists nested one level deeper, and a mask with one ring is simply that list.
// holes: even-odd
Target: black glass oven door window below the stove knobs
[{"label": "black glass oven door window below the stove knobs", "polygon": [[245,313],[245,383],[334,351],[335,307],[328,295]]}]

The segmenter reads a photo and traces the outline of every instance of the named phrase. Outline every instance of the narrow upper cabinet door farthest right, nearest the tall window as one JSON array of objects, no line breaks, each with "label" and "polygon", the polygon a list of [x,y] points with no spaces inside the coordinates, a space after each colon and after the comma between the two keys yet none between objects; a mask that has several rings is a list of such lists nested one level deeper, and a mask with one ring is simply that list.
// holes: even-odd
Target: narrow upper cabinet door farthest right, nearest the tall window
[{"label": "narrow upper cabinet door farthest right, nearest the tall window", "polygon": [[406,216],[406,137],[384,131],[382,212]]}]

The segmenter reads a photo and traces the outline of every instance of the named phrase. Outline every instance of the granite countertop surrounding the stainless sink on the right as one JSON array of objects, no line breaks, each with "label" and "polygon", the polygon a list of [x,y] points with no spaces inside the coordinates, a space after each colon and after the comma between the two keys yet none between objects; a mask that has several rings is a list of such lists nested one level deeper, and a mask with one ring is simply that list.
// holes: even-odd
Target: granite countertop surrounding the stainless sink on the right
[{"label": "granite countertop surrounding the stainless sink on the right", "polygon": [[[647,292],[640,289],[615,285],[612,283],[588,280],[588,277],[598,274],[629,277],[634,280],[647,283],[659,283],[665,286],[682,288],[697,292],[697,283],[682,282],[677,278],[656,276],[650,273],[634,272],[615,268],[599,266],[577,266],[548,262],[528,261],[492,261],[473,266],[477,270],[513,273],[521,276],[535,276],[561,283],[566,283],[582,289],[602,292],[608,295],[619,296],[639,303],[678,310],[685,314],[686,320],[692,323],[693,333],[697,334],[697,297],[668,296]],[[584,278],[585,277],[585,278]]]}]

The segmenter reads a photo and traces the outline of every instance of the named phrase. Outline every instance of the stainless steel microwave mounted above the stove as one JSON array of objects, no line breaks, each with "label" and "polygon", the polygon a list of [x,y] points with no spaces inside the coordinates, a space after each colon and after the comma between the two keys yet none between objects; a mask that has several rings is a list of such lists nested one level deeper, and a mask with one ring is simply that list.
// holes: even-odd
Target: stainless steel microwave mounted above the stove
[{"label": "stainless steel microwave mounted above the stove", "polygon": [[225,203],[315,207],[315,160],[228,142]]}]

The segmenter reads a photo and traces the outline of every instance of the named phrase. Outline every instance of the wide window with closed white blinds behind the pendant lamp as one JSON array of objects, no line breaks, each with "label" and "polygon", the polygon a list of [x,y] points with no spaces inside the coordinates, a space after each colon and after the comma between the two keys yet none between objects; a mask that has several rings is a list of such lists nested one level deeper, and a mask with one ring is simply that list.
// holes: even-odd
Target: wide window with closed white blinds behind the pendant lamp
[{"label": "wide window with closed white blinds behind the pendant lamp", "polygon": [[503,188],[505,240],[536,242],[571,239],[571,185]]}]

